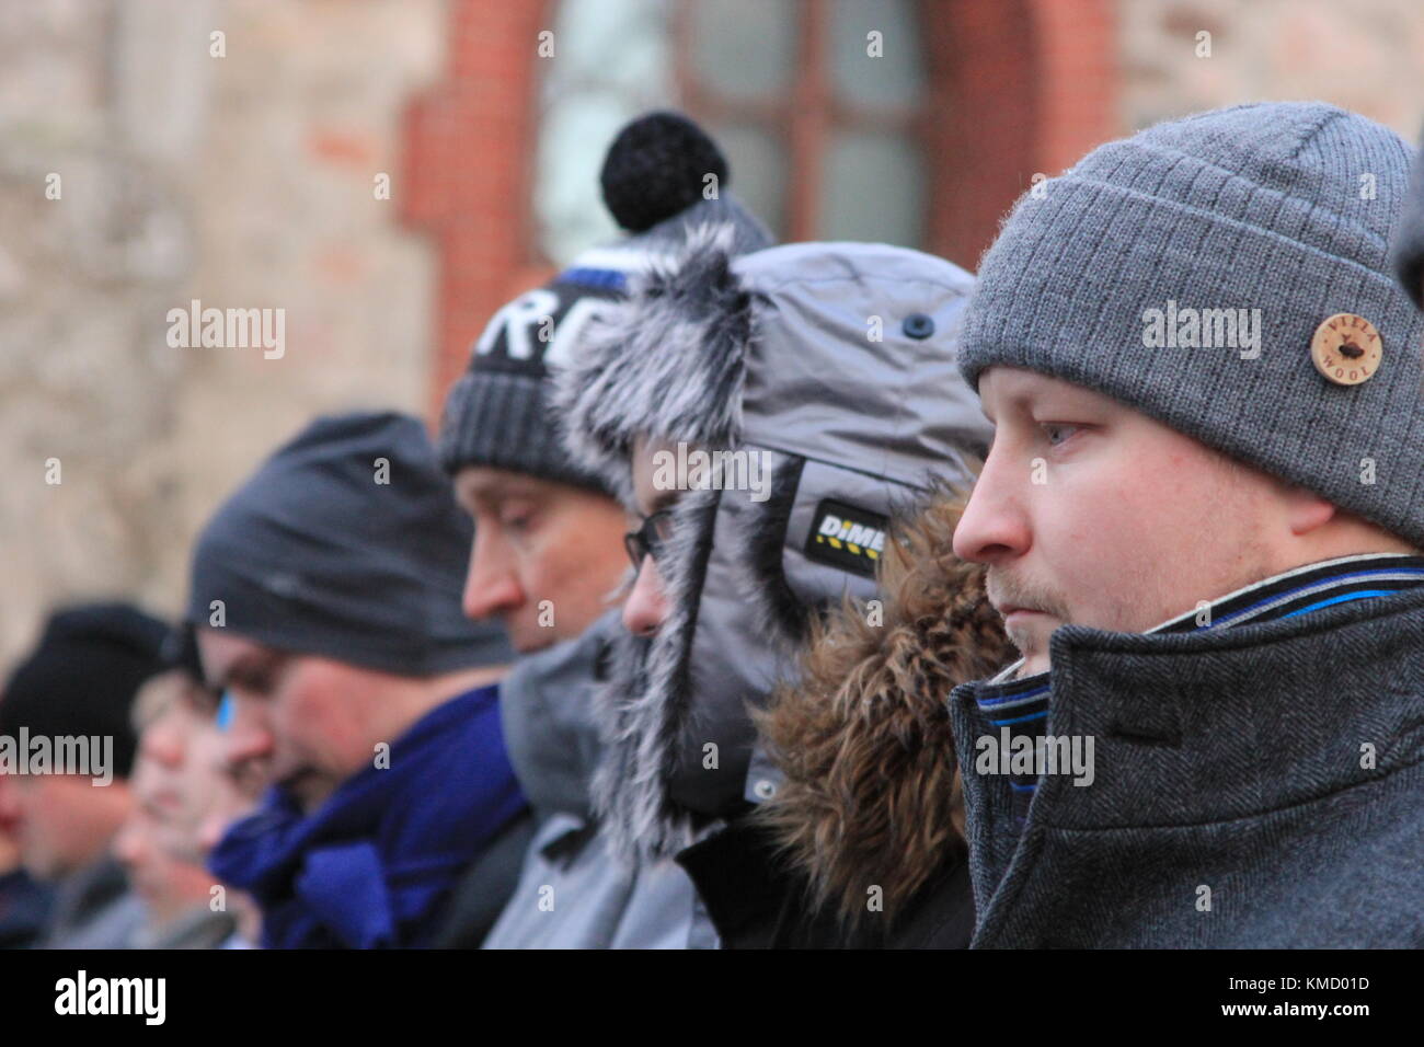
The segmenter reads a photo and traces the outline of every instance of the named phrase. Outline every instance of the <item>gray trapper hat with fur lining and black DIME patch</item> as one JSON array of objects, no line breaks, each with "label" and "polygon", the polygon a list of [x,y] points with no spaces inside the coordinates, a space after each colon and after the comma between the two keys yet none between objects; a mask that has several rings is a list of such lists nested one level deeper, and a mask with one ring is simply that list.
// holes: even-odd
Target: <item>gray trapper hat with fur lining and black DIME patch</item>
[{"label": "gray trapper hat with fur lining and black DIME patch", "polygon": [[883,244],[736,258],[706,226],[557,376],[571,457],[629,509],[639,439],[743,452],[763,479],[686,484],[659,560],[668,618],[615,645],[594,802],[619,853],[672,855],[769,795],[748,708],[820,610],[874,597],[891,514],[971,483],[993,437],[956,352],[973,283]]}]

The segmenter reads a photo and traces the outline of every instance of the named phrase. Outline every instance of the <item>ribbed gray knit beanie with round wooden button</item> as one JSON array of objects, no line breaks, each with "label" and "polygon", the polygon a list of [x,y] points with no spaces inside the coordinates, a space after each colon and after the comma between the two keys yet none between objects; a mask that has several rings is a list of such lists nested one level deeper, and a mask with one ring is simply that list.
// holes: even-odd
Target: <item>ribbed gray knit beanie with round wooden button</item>
[{"label": "ribbed gray knit beanie with round wooden button", "polygon": [[[1410,160],[1320,103],[1102,145],[1020,199],[985,254],[964,376],[1096,389],[1424,546],[1424,318],[1388,264]],[[1377,358],[1366,328],[1323,326],[1337,313],[1373,325]]]}]

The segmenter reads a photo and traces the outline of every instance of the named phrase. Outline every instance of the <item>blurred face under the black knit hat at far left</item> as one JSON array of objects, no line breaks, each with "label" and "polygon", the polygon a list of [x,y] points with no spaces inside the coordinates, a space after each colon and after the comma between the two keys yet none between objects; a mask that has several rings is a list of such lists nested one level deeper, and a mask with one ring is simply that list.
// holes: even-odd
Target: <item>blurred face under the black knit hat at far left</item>
[{"label": "blurred face under the black knit hat at far left", "polygon": [[0,825],[37,880],[57,880],[98,860],[128,816],[121,778],[95,786],[81,775],[0,776]]}]

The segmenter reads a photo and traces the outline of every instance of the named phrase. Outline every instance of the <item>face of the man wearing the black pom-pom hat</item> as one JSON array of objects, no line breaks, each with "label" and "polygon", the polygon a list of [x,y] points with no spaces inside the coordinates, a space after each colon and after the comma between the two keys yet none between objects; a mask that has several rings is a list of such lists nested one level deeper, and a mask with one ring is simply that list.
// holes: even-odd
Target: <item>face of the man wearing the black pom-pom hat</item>
[{"label": "face of the man wearing the black pom-pom hat", "polygon": [[484,466],[463,469],[454,487],[474,517],[466,615],[498,618],[528,652],[572,640],[608,610],[627,564],[612,499]]}]

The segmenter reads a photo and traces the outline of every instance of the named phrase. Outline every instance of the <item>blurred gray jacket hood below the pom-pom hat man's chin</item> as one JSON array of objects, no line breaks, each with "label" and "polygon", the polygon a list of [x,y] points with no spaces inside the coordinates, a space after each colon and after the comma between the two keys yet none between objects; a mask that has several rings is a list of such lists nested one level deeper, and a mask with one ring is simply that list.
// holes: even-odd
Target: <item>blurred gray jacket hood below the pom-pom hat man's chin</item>
[{"label": "blurred gray jacket hood below the pom-pom hat man's chin", "polygon": [[504,746],[540,819],[590,815],[600,748],[594,691],[608,644],[622,631],[618,615],[608,611],[577,640],[520,658],[500,682]]}]

